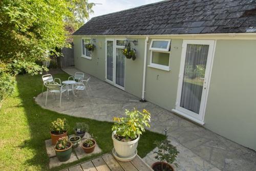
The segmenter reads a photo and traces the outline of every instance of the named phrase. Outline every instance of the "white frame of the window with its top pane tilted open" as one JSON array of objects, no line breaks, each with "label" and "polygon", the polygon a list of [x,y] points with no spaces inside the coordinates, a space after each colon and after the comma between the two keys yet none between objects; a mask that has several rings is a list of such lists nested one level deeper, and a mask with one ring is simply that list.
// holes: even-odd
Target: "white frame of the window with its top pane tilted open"
[{"label": "white frame of the window with its top pane tilted open", "polygon": [[[152,48],[153,41],[168,41],[168,46],[167,46],[166,49]],[[151,40],[151,45],[150,45],[150,65],[148,65],[148,67],[159,69],[159,70],[164,70],[164,71],[170,71],[170,51],[169,51],[169,49],[170,49],[170,41],[171,41],[170,39],[152,39]],[[157,63],[153,63],[152,62],[153,52],[168,53],[169,54],[168,66],[164,66],[164,65],[157,64]]]}]

